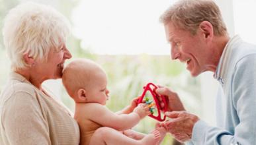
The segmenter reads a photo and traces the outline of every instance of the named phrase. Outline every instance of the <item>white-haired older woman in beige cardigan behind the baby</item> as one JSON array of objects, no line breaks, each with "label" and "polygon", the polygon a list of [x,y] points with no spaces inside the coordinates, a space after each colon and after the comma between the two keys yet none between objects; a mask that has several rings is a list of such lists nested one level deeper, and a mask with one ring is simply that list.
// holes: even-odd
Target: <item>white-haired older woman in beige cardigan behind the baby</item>
[{"label": "white-haired older woman in beige cardigan behind the baby", "polygon": [[46,5],[25,3],[7,14],[3,38],[11,74],[0,96],[0,144],[79,144],[69,110],[42,87],[61,78],[71,58],[68,32],[66,18]]}]

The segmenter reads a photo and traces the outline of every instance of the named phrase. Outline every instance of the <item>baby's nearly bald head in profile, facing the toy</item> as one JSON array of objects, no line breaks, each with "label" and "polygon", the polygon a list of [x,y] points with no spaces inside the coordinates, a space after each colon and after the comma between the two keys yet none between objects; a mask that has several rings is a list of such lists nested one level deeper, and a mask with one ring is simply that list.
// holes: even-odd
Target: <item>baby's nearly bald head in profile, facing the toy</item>
[{"label": "baby's nearly bald head in profile, facing the toy", "polygon": [[76,103],[101,103],[108,100],[107,75],[95,62],[76,59],[65,67],[62,83]]}]

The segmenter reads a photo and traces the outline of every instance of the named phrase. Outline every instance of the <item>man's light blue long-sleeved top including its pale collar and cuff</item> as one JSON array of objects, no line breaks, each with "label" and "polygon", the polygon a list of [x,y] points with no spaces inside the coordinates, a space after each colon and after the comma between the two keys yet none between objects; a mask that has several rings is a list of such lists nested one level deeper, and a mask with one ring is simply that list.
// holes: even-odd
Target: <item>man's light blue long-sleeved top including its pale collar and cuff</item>
[{"label": "man's light blue long-sleeved top including its pale collar and cuff", "polygon": [[256,45],[234,36],[222,53],[214,78],[220,82],[217,126],[198,121],[187,143],[256,144]]}]

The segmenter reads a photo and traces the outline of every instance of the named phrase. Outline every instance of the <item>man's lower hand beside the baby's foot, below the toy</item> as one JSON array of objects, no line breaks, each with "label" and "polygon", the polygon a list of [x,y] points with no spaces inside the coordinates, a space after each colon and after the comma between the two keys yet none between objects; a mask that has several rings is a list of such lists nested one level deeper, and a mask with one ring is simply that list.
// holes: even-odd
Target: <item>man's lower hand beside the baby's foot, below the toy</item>
[{"label": "man's lower hand beside the baby's foot, below the toy", "polygon": [[165,129],[170,132],[179,142],[185,142],[191,139],[194,124],[199,121],[196,115],[187,113],[187,111],[165,112],[165,115],[171,120],[161,123]]}]

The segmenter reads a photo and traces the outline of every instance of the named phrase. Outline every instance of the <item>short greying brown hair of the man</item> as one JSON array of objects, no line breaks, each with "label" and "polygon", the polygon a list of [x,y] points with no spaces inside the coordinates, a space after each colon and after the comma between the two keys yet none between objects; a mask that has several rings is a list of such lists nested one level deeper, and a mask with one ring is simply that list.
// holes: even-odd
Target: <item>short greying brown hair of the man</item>
[{"label": "short greying brown hair of the man", "polygon": [[214,28],[216,36],[227,34],[227,28],[222,19],[218,5],[211,0],[181,0],[171,5],[160,18],[160,22],[172,22],[176,28],[189,30],[196,34],[199,24],[208,21]]}]

